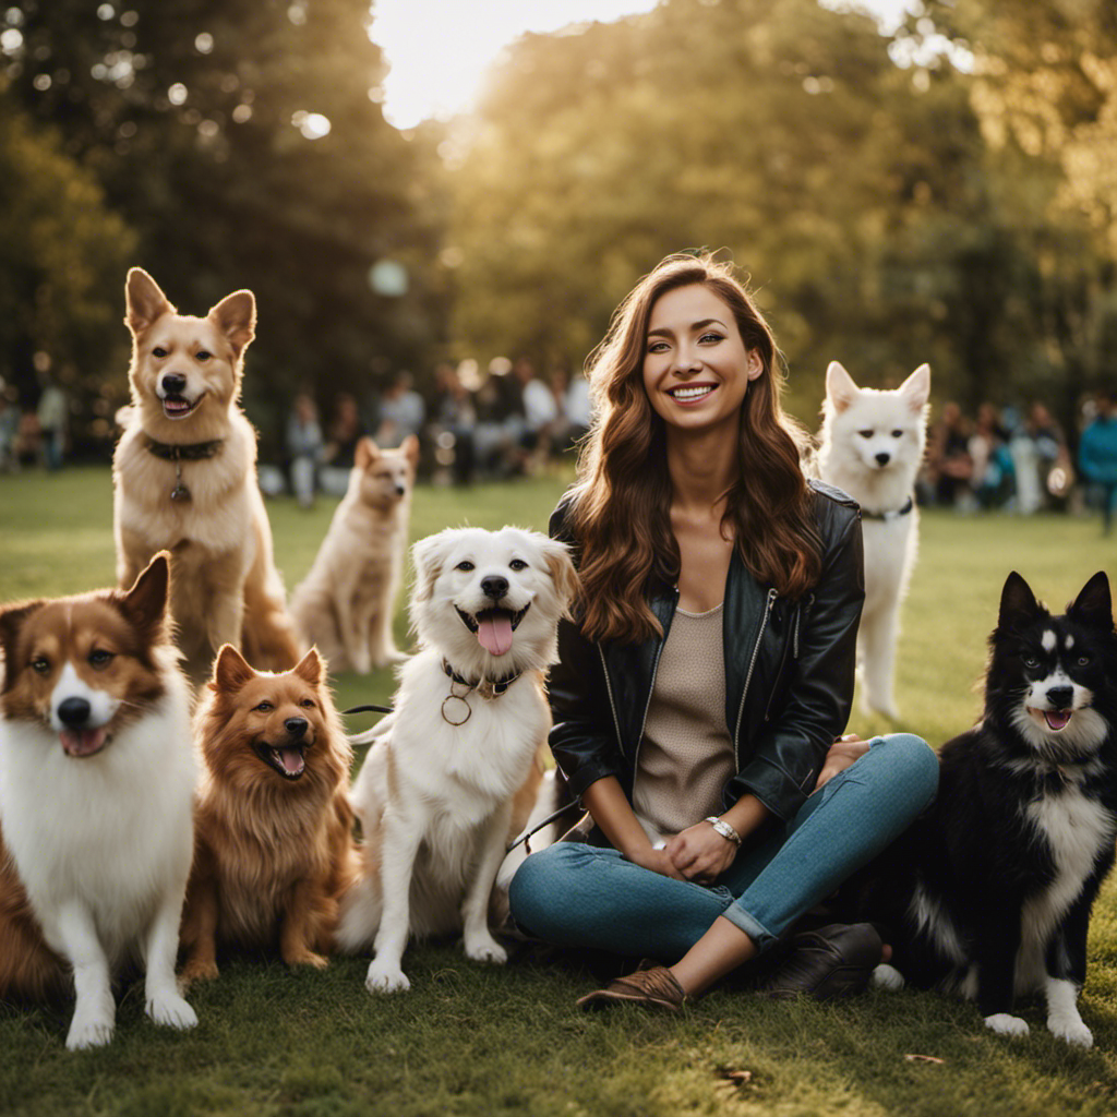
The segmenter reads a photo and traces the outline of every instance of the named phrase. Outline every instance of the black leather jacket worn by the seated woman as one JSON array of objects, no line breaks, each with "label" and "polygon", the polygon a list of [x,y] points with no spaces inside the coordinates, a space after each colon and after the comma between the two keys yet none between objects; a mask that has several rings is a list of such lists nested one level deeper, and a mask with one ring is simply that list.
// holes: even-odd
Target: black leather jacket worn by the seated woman
[{"label": "black leather jacket worn by the seated woman", "polygon": [[[857,503],[821,481],[810,486],[823,546],[813,592],[800,601],[780,598],[755,581],[736,551],[725,583],[725,723],[737,774],[722,798],[728,808],[752,792],[781,819],[802,805],[827,750],[846,728],[865,601]],[[551,517],[551,534],[571,542],[565,504]],[[560,626],[560,662],[550,681],[551,751],[573,795],[612,775],[631,801],[659,653],[678,598],[677,586],[652,588],[648,603],[663,637],[642,643],[594,642],[576,623]]]}]

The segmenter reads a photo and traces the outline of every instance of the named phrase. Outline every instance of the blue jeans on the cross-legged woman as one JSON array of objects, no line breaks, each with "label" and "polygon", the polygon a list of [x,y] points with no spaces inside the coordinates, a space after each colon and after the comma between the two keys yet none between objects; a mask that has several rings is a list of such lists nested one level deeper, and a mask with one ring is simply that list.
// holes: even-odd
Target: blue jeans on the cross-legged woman
[{"label": "blue jeans on the cross-legged woman", "polygon": [[678,961],[718,916],[760,951],[897,838],[935,798],[938,757],[908,733],[869,752],[794,818],[746,843],[713,885],[672,880],[615,849],[558,842],[528,857],[508,890],[527,934],[561,946]]}]

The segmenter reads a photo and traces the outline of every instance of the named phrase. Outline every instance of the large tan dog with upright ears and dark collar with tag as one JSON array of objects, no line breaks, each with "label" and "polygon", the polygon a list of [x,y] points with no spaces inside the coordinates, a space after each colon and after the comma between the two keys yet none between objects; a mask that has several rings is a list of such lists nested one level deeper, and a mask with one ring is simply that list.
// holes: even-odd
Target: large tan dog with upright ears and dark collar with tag
[{"label": "large tan dog with upright ears and dark collar with tag", "polygon": [[125,296],[133,405],[113,458],[117,582],[131,585],[156,551],[173,554],[171,614],[195,679],[222,643],[261,667],[294,667],[256,432],[237,407],[256,299],[238,290],[204,318],[182,315],[141,268]]}]

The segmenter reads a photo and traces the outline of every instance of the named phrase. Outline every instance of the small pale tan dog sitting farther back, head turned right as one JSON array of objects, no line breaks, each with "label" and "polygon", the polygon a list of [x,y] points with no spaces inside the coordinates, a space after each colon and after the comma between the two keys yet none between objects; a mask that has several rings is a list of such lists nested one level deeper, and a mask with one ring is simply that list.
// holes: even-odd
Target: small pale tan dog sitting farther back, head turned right
[{"label": "small pale tan dog sitting farther back, head turned right", "polygon": [[349,490],[334,513],[311,573],[292,595],[290,611],[307,643],[332,670],[367,675],[402,657],[392,613],[408,543],[419,439],[398,450],[371,438],[357,442]]}]

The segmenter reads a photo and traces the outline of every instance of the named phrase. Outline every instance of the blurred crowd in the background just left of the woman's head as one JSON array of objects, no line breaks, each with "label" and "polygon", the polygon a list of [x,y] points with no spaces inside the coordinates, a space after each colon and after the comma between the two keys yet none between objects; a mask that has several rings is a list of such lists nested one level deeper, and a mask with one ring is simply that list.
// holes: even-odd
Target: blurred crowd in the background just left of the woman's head
[{"label": "blurred crowd in the background just left of the woman's head", "polygon": [[409,435],[419,438],[422,472],[436,481],[515,477],[544,468],[589,426],[589,385],[565,367],[544,376],[525,357],[498,357],[483,375],[476,362],[445,363],[435,370],[427,397],[410,373],[399,372],[364,401],[338,393],[326,421],[313,394],[300,392],[285,432],[287,481],[304,506],[316,491],[340,495],[361,438],[371,436],[386,449]]}]

